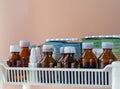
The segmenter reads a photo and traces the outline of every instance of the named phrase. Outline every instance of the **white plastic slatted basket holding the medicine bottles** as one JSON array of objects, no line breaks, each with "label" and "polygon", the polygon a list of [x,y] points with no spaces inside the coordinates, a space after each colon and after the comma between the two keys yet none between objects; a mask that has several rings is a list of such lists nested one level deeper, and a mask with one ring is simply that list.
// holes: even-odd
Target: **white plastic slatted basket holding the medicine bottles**
[{"label": "white plastic slatted basket holding the medicine bottles", "polygon": [[[115,62],[113,64],[115,66],[116,64],[120,65],[120,62]],[[116,74],[113,72],[118,66],[114,67],[115,69],[112,68],[112,65],[108,65],[104,69],[18,68],[8,67],[6,63],[2,61],[0,62],[0,66],[1,76],[4,78],[4,82],[8,84],[69,85],[82,87],[112,87],[112,89],[120,89],[113,88],[112,84],[113,81],[117,80],[114,77]],[[119,69],[119,67],[117,69]],[[26,87],[24,86],[24,88]]]}]

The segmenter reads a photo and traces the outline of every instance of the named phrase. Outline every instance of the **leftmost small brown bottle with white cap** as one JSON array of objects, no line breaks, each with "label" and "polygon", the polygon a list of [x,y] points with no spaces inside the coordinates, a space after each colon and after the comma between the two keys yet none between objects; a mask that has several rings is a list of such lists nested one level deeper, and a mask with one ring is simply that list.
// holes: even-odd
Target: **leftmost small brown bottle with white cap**
[{"label": "leftmost small brown bottle with white cap", "polygon": [[20,46],[18,46],[18,45],[11,45],[10,46],[11,55],[9,57],[9,60],[7,61],[7,65],[9,67],[15,67],[16,66],[17,60],[20,59],[19,52],[20,52]]}]

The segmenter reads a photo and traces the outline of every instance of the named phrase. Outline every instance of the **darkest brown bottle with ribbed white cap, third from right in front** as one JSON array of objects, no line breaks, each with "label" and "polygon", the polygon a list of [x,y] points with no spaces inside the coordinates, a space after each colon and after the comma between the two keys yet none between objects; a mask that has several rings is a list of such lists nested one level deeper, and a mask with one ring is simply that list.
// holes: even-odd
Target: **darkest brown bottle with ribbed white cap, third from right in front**
[{"label": "darkest brown bottle with ribbed white cap, third from right in front", "polygon": [[78,62],[74,58],[75,47],[66,46],[64,47],[64,53],[66,54],[64,59],[61,61],[63,68],[77,68]]}]

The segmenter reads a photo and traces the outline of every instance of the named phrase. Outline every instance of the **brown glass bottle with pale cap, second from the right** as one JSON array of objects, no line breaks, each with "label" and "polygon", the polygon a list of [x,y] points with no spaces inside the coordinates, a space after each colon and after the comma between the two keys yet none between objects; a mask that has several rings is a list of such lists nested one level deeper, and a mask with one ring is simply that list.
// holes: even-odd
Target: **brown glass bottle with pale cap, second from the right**
[{"label": "brown glass bottle with pale cap, second from the right", "polygon": [[81,56],[81,63],[82,68],[97,68],[98,67],[98,60],[95,54],[92,52],[93,43],[82,43],[82,48],[84,53]]}]

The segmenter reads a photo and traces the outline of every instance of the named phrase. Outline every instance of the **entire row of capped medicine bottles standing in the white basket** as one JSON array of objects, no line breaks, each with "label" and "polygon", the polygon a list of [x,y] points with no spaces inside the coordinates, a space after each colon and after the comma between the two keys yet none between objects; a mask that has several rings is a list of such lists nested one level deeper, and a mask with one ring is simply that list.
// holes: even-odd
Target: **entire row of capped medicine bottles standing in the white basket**
[{"label": "entire row of capped medicine bottles standing in the white basket", "polygon": [[[76,48],[64,46],[58,49],[61,56],[55,59],[53,56],[54,46],[43,45],[42,53],[38,47],[29,49],[30,42],[20,41],[19,46],[10,46],[11,56],[7,61],[9,67],[45,67],[45,68],[104,68],[106,65],[117,61],[112,53],[113,43],[102,42],[103,53],[97,58],[92,49],[91,42],[82,43],[83,54],[76,59]],[[40,55],[43,54],[42,57]]]}]

